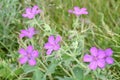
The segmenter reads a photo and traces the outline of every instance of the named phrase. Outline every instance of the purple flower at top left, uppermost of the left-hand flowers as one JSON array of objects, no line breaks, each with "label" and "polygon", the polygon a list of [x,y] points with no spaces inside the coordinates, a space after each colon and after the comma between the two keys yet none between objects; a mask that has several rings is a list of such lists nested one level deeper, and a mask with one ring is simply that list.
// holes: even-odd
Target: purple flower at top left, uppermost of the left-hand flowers
[{"label": "purple flower at top left, uppermost of the left-hand flowers", "polygon": [[41,13],[42,10],[39,9],[37,5],[33,6],[32,8],[28,7],[26,8],[26,13],[23,13],[22,16],[25,18],[32,19],[35,17],[35,15]]}]

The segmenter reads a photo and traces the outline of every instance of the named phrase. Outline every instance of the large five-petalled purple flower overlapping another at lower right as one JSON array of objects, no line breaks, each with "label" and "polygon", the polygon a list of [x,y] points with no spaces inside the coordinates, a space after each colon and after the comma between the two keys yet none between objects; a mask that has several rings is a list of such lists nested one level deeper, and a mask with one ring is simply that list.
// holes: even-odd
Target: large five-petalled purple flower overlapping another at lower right
[{"label": "large five-petalled purple flower overlapping another at lower right", "polygon": [[97,49],[96,47],[92,47],[90,49],[89,54],[85,54],[83,61],[84,62],[90,62],[89,68],[92,70],[96,70],[97,67],[99,68],[104,68],[105,67],[105,52],[104,50]]}]

